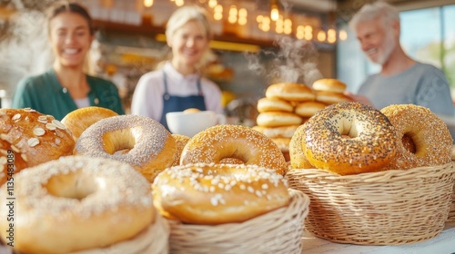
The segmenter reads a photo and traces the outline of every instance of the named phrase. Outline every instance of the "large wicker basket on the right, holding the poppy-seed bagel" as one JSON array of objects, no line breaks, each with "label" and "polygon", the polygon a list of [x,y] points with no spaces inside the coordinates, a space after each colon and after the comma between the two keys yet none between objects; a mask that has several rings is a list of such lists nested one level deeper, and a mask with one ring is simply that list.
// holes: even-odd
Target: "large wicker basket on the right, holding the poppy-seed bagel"
[{"label": "large wicker basket on the right, holding the poppy-seed bagel", "polygon": [[322,239],[360,245],[437,236],[448,218],[454,178],[452,163],[349,176],[288,171],[290,187],[311,200],[305,228]]}]

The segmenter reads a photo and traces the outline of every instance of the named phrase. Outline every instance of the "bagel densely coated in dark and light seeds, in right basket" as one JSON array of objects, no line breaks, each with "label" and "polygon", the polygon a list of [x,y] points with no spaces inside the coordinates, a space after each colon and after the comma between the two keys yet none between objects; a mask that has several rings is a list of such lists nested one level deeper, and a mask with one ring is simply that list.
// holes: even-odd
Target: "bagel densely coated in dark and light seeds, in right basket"
[{"label": "bagel densely coated in dark and light seeds, in right basket", "polygon": [[308,161],[340,175],[382,171],[397,154],[389,119],[362,103],[336,103],[320,110],[304,124],[303,133]]}]

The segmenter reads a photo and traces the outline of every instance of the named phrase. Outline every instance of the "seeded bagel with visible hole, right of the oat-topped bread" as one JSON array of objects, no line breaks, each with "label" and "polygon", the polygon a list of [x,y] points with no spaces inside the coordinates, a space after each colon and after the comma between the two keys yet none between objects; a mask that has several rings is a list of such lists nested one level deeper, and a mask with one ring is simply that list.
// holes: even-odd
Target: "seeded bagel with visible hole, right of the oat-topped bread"
[{"label": "seeded bagel with visible hole, right of the oat-topped bread", "polygon": [[76,142],[75,154],[126,162],[152,182],[172,165],[176,150],[176,141],[161,123],[127,114],[88,127]]}]

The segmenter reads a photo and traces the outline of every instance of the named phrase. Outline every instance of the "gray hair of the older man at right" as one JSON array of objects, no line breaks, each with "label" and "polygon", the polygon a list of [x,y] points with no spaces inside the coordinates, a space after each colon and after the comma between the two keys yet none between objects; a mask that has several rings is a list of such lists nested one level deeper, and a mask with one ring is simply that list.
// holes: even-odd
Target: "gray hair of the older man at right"
[{"label": "gray hair of the older man at right", "polygon": [[399,22],[399,11],[392,5],[383,1],[363,5],[349,21],[349,28],[355,31],[356,26],[363,21],[379,18],[381,23],[389,26],[393,22]]}]

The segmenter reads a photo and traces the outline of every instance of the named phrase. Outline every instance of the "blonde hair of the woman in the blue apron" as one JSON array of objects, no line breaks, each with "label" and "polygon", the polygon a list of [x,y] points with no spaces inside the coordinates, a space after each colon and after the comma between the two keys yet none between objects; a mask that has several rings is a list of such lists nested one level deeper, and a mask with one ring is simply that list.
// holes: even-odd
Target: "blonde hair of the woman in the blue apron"
[{"label": "blonde hair of the woman in the blue apron", "polygon": [[166,25],[167,38],[171,38],[178,28],[193,20],[197,21],[197,23],[206,31],[207,39],[211,39],[212,28],[208,21],[206,10],[197,5],[180,7],[170,16]]}]

